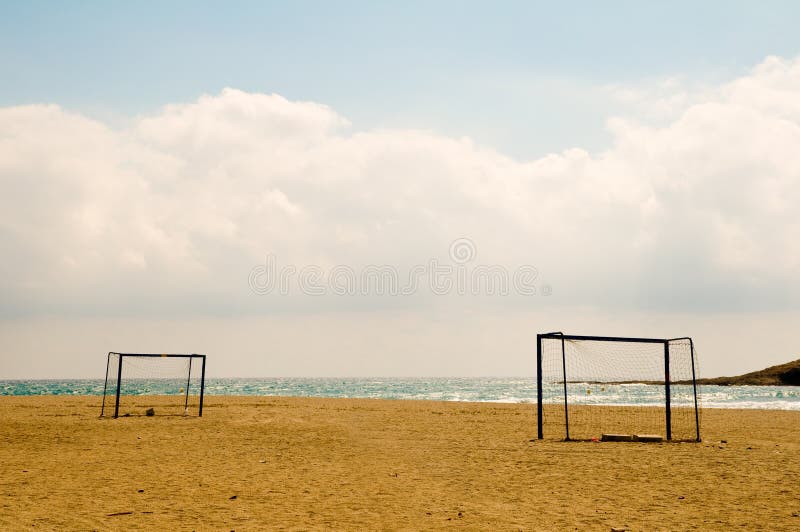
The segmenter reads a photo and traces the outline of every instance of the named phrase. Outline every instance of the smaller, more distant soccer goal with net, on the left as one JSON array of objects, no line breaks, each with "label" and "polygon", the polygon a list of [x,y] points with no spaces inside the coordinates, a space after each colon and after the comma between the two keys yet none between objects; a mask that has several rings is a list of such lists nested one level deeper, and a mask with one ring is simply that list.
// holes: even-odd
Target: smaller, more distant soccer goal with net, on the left
[{"label": "smaller, more distant soccer goal with net, on the left", "polygon": [[108,354],[100,417],[203,415],[206,356]]}]

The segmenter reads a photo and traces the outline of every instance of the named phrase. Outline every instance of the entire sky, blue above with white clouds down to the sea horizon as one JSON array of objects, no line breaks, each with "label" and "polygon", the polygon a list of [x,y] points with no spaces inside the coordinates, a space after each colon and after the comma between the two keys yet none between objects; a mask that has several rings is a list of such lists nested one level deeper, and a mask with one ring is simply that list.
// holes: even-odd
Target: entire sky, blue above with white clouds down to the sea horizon
[{"label": "entire sky, blue above with white clouds down to the sea horizon", "polygon": [[0,379],[800,356],[791,2],[0,2]]}]

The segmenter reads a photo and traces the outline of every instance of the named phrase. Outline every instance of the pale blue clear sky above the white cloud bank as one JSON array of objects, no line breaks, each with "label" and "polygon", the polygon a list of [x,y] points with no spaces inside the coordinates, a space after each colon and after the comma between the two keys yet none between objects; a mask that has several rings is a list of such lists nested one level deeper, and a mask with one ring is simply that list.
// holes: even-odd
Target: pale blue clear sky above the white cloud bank
[{"label": "pale blue clear sky above the white cloud bank", "polygon": [[224,87],[521,158],[608,146],[598,88],[798,53],[794,2],[3,2],[0,104],[105,120]]}]

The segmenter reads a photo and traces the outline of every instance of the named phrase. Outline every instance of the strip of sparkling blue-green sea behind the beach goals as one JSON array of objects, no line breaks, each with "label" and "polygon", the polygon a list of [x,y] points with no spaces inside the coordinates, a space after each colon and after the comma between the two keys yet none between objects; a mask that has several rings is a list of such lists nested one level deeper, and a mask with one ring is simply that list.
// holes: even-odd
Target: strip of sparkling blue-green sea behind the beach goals
[{"label": "strip of sparkling blue-green sea behind the beach goals", "polygon": [[[0,380],[0,395],[103,395],[103,379]],[[138,380],[129,394],[181,394],[186,382]],[[190,383],[194,392],[197,384]],[[699,386],[705,408],[800,410],[796,386]],[[536,378],[207,378],[206,395],[349,397],[487,403],[535,403]],[[604,405],[663,404],[663,386],[569,383],[571,401]],[[543,392],[545,402],[563,400],[563,384]],[[690,386],[671,387],[673,404],[693,402]]]}]

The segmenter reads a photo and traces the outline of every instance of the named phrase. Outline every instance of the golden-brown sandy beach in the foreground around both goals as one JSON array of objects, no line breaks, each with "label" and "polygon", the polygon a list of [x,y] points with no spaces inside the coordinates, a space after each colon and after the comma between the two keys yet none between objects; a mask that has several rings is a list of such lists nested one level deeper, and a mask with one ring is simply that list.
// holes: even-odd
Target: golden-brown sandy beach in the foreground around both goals
[{"label": "golden-brown sandy beach in the foreground around both goals", "polygon": [[531,441],[529,404],[212,396],[114,420],[100,399],[0,398],[0,529],[800,528],[800,412],[593,443]]}]

